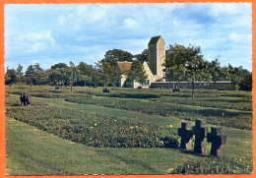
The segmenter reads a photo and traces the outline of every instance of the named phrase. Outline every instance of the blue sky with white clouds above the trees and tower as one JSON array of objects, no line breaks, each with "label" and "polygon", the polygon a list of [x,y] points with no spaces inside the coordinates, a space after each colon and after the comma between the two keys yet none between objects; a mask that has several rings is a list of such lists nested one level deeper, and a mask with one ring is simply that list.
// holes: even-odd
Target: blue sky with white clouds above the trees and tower
[{"label": "blue sky with white clouds above the trees and tower", "polygon": [[5,67],[83,61],[109,49],[132,54],[151,36],[201,46],[205,59],[252,69],[251,3],[5,5]]}]

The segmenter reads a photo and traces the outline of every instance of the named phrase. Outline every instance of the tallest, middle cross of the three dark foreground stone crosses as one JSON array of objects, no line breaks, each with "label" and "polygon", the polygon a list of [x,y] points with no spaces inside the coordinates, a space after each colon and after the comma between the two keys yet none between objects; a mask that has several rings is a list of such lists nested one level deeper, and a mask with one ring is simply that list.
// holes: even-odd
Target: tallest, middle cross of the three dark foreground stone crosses
[{"label": "tallest, middle cross of the three dark foreground stone crosses", "polygon": [[203,120],[196,119],[196,125],[192,127],[192,132],[195,135],[195,153],[206,154],[206,140],[208,129]]}]

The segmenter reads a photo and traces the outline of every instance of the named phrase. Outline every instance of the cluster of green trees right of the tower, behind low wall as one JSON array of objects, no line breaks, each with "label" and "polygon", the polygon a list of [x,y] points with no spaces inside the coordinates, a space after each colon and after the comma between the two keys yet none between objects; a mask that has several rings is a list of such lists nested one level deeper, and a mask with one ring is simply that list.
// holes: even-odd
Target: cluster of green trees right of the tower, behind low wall
[{"label": "cluster of green trees right of the tower, behind low wall", "polygon": [[243,69],[242,66],[232,67],[228,64],[221,67],[219,57],[208,61],[204,59],[199,46],[169,45],[164,64],[166,81],[190,81],[192,90],[194,90],[195,81],[215,83],[229,81],[236,89],[251,90],[252,73]]}]

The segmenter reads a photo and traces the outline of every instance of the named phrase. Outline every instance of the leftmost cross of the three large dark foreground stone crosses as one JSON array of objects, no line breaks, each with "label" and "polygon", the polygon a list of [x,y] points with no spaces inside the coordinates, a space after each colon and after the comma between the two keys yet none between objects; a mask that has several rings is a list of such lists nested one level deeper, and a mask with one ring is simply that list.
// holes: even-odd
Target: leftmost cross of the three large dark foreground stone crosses
[{"label": "leftmost cross of the three large dark foreground stone crosses", "polygon": [[193,137],[191,123],[182,122],[181,128],[178,128],[178,136],[181,137],[180,148],[192,148],[192,142],[190,141]]}]

